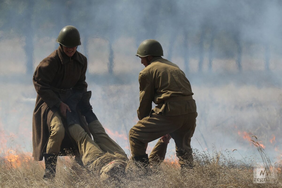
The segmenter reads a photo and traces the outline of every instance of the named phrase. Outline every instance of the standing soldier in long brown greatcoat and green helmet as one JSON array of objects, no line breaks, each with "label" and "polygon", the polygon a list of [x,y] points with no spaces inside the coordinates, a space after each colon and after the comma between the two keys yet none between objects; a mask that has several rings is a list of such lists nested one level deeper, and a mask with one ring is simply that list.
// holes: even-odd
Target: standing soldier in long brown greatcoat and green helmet
[{"label": "standing soldier in long brown greatcoat and green helmet", "polygon": [[[33,157],[42,160],[44,156],[44,179],[54,177],[59,153],[78,154],[75,141],[64,128],[64,117],[70,110],[65,101],[74,92],[87,91],[87,59],[76,50],[81,45],[78,30],[74,26],[64,27],[57,42],[60,43],[58,49],[39,63],[33,76],[38,94],[32,119]],[[80,121],[81,127],[91,136],[81,114]]]}]

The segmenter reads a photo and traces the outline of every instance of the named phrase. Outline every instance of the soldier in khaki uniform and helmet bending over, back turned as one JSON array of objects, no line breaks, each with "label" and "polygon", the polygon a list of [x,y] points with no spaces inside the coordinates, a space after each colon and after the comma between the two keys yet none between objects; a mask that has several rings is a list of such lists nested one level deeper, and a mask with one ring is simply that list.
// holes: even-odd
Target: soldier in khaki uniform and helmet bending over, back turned
[{"label": "soldier in khaki uniform and helmet bending over, back turned", "polygon": [[[148,166],[147,144],[169,134],[176,145],[180,166],[193,167],[191,137],[196,127],[196,103],[191,85],[180,68],[163,59],[160,43],[143,41],[136,56],[145,68],[139,73],[139,121],[129,131],[133,160]],[[157,105],[152,110],[152,101]]]}]

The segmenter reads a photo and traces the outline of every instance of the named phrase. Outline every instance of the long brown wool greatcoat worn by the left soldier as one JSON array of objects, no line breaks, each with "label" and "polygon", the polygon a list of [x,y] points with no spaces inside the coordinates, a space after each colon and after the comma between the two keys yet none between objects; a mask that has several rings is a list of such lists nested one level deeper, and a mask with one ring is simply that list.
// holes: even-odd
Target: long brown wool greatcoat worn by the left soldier
[{"label": "long brown wool greatcoat worn by the left soldier", "polygon": [[[48,57],[43,59],[36,68],[33,76],[33,84],[37,92],[36,104],[32,118],[32,145],[34,160],[43,159],[46,152],[47,142],[50,136],[50,121],[54,112],[58,111],[57,105],[66,102],[73,92],[84,93],[87,91],[85,73],[87,69],[87,59],[78,51],[72,57],[68,57],[59,46]],[[50,89],[69,89],[67,92],[59,93]],[[66,120],[63,118],[66,128]],[[89,134],[89,129],[84,116],[80,114],[80,125]],[[77,145],[69,136],[66,128],[65,138],[61,144],[61,155],[67,154],[70,150],[77,155]],[[60,155],[59,154],[59,155]]]}]

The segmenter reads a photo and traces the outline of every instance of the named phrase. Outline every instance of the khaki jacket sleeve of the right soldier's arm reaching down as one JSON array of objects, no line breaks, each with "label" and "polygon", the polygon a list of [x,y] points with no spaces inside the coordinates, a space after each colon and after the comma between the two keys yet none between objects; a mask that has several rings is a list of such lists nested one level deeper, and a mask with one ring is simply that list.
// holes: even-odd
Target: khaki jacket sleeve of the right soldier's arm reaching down
[{"label": "khaki jacket sleeve of the right soldier's arm reaching down", "polygon": [[139,120],[150,115],[154,98],[153,83],[142,73],[139,74],[140,105],[137,110]]}]

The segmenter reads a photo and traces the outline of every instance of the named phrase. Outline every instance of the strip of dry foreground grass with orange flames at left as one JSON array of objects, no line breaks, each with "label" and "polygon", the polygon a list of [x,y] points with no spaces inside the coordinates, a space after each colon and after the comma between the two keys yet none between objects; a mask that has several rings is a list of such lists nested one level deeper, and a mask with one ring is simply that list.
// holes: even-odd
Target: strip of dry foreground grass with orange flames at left
[{"label": "strip of dry foreground grass with orange flames at left", "polygon": [[[181,170],[177,160],[165,160],[154,173],[136,176],[128,173],[122,184],[101,182],[98,175],[77,165],[73,158],[59,157],[54,180],[44,181],[44,162],[34,162],[30,153],[8,150],[1,153],[0,187],[282,187],[278,163],[271,163],[266,151],[252,137],[263,166],[275,170],[276,183],[253,183],[256,159],[236,160],[233,151],[194,150],[194,169]],[[142,174],[142,172],[138,172]]]}]

